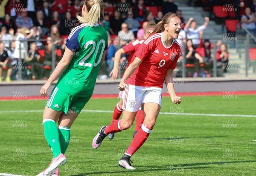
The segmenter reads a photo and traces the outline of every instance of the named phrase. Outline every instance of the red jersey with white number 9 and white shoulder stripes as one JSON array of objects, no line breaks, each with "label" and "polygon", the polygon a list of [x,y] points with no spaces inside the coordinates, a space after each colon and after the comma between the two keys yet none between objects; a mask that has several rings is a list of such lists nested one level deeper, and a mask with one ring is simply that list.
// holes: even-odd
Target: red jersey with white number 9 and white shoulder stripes
[{"label": "red jersey with white number 9 and white shoulder stripes", "polygon": [[173,39],[169,48],[163,43],[163,33],[149,36],[135,53],[143,60],[126,84],[163,88],[168,69],[174,70],[181,54],[179,43]]}]

